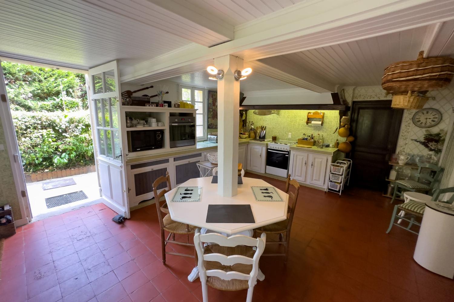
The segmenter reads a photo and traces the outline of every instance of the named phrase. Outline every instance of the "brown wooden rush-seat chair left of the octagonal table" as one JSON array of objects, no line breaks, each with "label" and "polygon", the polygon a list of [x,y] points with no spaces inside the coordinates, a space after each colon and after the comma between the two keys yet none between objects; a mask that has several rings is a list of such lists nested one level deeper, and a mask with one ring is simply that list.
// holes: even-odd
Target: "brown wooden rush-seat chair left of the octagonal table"
[{"label": "brown wooden rush-seat chair left of the octagonal table", "polygon": [[[161,190],[161,192],[158,193],[158,187],[163,182],[167,182],[167,188]],[[170,177],[168,172],[166,172],[166,176],[161,176],[153,182],[154,200],[156,204],[156,210],[158,211],[159,226],[161,227],[161,248],[163,254],[163,264],[166,264],[166,254],[195,258],[197,264],[197,252],[195,251],[195,249],[194,254],[192,255],[166,252],[166,245],[168,243],[194,246],[194,244],[189,243],[189,235],[194,234],[195,227],[182,222],[173,221],[170,217],[167,202],[164,202],[163,206],[160,205],[161,198],[170,190],[172,190],[172,187],[170,185]],[[163,218],[161,212],[166,213],[167,215]],[[167,231],[169,233],[167,238],[165,237],[164,231]],[[175,241],[175,234],[188,235],[188,242]],[[172,239],[170,237],[172,237]]]}]

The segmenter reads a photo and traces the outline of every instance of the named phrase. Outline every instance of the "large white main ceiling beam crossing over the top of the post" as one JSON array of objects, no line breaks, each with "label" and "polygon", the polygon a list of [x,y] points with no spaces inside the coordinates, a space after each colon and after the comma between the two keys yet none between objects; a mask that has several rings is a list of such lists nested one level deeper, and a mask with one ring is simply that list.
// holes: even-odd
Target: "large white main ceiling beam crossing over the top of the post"
[{"label": "large white main ceiling beam crossing over the top of the post", "polygon": [[[251,61],[454,19],[454,0],[315,0],[309,6],[304,4],[291,8],[300,13],[300,19],[307,11],[314,12],[307,22],[292,22],[298,14],[292,14],[289,22],[287,15],[279,11],[265,17],[281,24],[276,28],[251,24],[247,30],[250,35],[238,34],[241,38],[237,38],[236,33],[233,41],[212,48],[192,45],[165,58],[125,68],[121,79],[132,81],[227,54]],[[246,32],[246,28],[240,30]]]}]

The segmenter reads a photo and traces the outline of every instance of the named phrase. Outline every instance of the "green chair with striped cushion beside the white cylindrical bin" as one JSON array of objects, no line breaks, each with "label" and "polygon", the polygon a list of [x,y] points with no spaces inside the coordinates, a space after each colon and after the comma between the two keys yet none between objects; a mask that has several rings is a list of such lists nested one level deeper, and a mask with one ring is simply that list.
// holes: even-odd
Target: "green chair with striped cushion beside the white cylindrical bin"
[{"label": "green chair with striped cushion beside the white cylindrical bin", "polygon": [[[431,200],[438,201],[441,194],[452,193],[452,192],[454,192],[454,187],[434,190],[434,195],[432,196]],[[454,202],[454,194],[447,201],[440,201],[440,202],[446,202],[446,203],[452,204]],[[421,224],[419,222],[415,221],[415,218],[422,217],[424,215],[424,210],[425,210],[425,203],[419,202],[419,201],[408,201],[408,202],[402,203],[400,205],[394,206],[393,216],[391,217],[390,226],[389,226],[388,230],[386,231],[386,233],[390,232],[393,225],[397,225],[397,226],[399,226],[405,230],[408,230],[412,233],[415,233],[417,235],[418,232],[415,232],[414,230],[410,230],[410,228],[412,225],[421,226]],[[397,211],[399,211],[399,214],[397,214]],[[404,227],[404,226],[400,225],[400,221],[395,223],[394,221],[396,218],[399,220],[401,219],[401,220],[408,221],[409,225],[407,227]]]}]

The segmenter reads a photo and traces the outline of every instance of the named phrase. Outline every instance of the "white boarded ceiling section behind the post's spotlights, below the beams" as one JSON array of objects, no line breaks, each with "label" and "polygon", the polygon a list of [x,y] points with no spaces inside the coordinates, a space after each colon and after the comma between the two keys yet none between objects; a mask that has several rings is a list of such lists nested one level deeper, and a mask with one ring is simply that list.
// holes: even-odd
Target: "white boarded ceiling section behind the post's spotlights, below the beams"
[{"label": "white boarded ceiling section behind the post's spotlights, below the beams", "polygon": [[[171,77],[168,80],[182,83],[188,86],[200,86],[207,88],[216,88],[217,81],[209,80],[210,75],[206,70],[184,74],[178,77]],[[298,86],[288,84],[283,81],[267,77],[266,75],[252,72],[246,79],[240,81],[240,90],[246,91],[263,91],[263,90],[280,90],[280,89],[294,89]]]}]

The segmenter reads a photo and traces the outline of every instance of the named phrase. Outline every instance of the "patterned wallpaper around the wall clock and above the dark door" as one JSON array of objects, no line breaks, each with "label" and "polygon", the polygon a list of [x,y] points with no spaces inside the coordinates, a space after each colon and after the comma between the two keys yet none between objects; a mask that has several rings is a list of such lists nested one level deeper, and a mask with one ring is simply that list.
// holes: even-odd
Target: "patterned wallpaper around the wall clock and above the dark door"
[{"label": "patterned wallpaper around the wall clock and above the dark door", "polygon": [[[381,86],[344,87],[344,94],[349,104],[351,104],[351,101],[389,100],[391,98],[391,96],[386,95],[386,91]],[[434,97],[434,99],[427,101],[424,108],[435,108],[442,114],[442,121],[428,130],[430,133],[436,133],[439,130],[446,131],[450,118],[454,117],[454,86],[450,85],[443,89],[430,91],[428,96]],[[422,139],[426,130],[413,124],[412,118],[416,111],[404,110],[397,142],[397,152],[423,155],[428,153],[427,149],[411,140]]]}]

